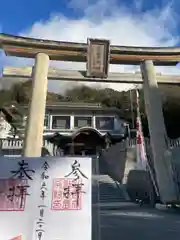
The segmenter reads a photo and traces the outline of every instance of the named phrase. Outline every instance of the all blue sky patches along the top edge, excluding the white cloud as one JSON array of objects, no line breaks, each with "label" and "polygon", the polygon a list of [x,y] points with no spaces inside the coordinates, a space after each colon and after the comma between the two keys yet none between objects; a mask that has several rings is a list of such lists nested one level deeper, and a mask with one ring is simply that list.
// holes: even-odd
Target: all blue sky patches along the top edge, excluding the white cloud
[{"label": "all blue sky patches along the top edge, excluding the white cloud", "polygon": [[[109,2],[111,2],[110,0]],[[79,5],[85,6],[95,1],[74,1],[69,2],[68,0],[2,0],[1,1],[1,14],[0,24],[1,30],[5,33],[18,34],[23,30],[30,28],[37,21],[48,20],[54,14],[63,14],[69,19],[77,19],[83,16],[83,9],[79,8]],[[141,5],[140,13],[153,10],[157,7],[162,8],[168,1],[165,0],[144,0],[137,1]],[[180,14],[180,2],[172,2],[173,10],[177,14]],[[76,4],[78,3],[78,4]],[[126,5],[132,13],[136,13],[137,9],[134,7],[133,0],[117,1],[117,5],[120,7],[121,4]],[[81,11],[82,10],[82,11]],[[177,22],[179,25],[179,22]],[[179,29],[180,30],[180,29]]]}]

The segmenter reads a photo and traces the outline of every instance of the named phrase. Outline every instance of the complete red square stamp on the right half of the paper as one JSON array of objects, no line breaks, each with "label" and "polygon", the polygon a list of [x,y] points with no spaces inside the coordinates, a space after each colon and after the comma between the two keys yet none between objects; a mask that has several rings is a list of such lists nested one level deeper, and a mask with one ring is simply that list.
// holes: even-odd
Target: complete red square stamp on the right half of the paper
[{"label": "complete red square stamp on the right half of the paper", "polygon": [[73,178],[55,178],[52,189],[52,210],[81,210],[83,183]]}]

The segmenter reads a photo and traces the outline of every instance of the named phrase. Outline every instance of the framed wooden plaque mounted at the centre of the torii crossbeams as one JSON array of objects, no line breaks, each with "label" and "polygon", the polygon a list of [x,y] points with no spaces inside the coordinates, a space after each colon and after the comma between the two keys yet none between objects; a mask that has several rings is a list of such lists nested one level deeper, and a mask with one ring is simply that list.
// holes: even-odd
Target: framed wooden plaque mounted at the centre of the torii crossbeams
[{"label": "framed wooden plaque mounted at the centre of the torii crossbeams", "polygon": [[110,41],[88,39],[87,77],[107,78]]}]

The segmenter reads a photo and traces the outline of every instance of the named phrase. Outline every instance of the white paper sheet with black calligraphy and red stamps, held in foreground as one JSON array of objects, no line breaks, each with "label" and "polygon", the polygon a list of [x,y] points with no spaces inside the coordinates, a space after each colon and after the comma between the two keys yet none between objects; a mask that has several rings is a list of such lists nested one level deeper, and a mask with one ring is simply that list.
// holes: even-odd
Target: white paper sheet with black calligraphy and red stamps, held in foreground
[{"label": "white paper sheet with black calligraphy and red stamps, held in foreground", "polygon": [[91,163],[1,158],[0,239],[91,240]]}]

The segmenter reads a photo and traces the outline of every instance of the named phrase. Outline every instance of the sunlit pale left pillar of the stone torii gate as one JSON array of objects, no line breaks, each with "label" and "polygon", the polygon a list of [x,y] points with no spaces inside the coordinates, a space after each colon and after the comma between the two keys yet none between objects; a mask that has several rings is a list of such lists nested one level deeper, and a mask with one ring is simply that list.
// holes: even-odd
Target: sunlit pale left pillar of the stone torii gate
[{"label": "sunlit pale left pillar of the stone torii gate", "polygon": [[40,157],[43,146],[44,116],[48,87],[49,56],[38,53],[32,71],[32,98],[23,147],[23,156]]}]

